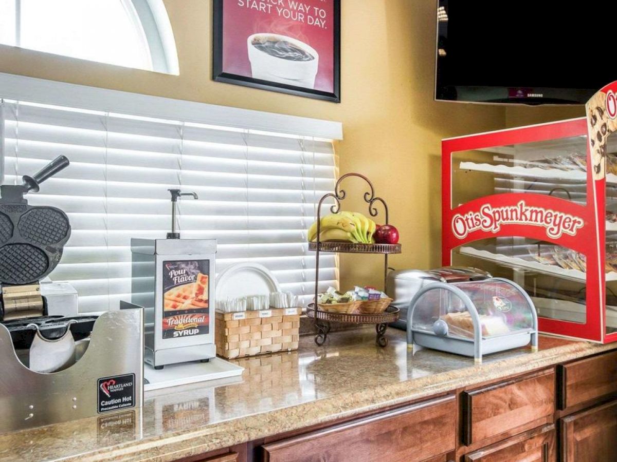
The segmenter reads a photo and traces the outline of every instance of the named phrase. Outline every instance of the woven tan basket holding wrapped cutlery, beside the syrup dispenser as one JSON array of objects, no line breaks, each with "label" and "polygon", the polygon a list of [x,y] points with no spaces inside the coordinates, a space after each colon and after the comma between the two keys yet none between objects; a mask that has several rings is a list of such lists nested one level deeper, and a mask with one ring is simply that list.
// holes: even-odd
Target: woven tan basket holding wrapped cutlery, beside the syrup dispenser
[{"label": "woven tan basket holding wrapped cutlery, beside the syrup dispenser", "polygon": [[226,359],[298,349],[300,308],[218,313],[217,355]]}]

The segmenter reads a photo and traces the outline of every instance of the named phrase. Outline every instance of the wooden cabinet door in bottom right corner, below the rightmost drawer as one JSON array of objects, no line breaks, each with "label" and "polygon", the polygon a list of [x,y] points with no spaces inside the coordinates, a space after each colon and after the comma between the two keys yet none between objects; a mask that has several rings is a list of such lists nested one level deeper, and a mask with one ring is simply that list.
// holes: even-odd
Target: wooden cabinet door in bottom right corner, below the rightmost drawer
[{"label": "wooden cabinet door in bottom right corner, below the rightmost drawer", "polygon": [[617,400],[560,419],[561,462],[614,462]]}]

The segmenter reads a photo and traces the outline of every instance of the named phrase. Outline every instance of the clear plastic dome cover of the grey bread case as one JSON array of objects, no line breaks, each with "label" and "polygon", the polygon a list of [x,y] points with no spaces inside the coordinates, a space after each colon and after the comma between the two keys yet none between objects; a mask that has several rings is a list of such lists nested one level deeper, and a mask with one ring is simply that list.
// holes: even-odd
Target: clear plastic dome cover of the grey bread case
[{"label": "clear plastic dome cover of the grey bread case", "polygon": [[431,284],[411,309],[414,330],[439,336],[473,338],[476,314],[483,338],[533,330],[534,325],[527,294],[507,280]]}]

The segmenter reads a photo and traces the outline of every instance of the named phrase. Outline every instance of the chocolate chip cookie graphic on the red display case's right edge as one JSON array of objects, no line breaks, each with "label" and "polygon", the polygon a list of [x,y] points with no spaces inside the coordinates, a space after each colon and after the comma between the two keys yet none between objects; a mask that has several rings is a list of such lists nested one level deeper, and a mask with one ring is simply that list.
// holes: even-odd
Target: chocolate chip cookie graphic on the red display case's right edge
[{"label": "chocolate chip cookie graphic on the red display case's right edge", "polygon": [[606,174],[607,137],[617,131],[617,120],[607,114],[607,94],[598,91],[585,105],[587,132],[591,146],[591,165],[594,180],[601,180]]}]

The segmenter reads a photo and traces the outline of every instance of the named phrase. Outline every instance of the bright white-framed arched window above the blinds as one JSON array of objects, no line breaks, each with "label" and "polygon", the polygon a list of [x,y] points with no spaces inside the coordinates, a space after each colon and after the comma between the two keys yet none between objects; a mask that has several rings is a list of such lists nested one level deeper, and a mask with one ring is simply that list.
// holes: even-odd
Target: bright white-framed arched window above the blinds
[{"label": "bright white-framed arched window above the blinds", "polygon": [[178,74],[163,0],[0,0],[0,43]]}]

